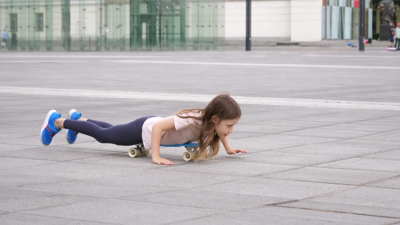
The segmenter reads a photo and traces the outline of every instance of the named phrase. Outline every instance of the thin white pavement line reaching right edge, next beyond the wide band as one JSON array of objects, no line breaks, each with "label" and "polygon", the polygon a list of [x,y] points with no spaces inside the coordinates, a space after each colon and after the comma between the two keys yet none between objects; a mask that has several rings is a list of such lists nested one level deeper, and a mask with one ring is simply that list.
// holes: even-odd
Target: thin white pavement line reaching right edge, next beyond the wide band
[{"label": "thin white pavement line reaching right edge, next beyond the wide band", "polygon": [[216,65],[216,66],[264,66],[264,67],[305,67],[305,68],[343,68],[343,69],[379,69],[398,70],[396,66],[344,66],[344,65],[314,65],[314,64],[270,64],[270,63],[239,63],[239,62],[185,62],[185,61],[149,61],[149,60],[102,60],[104,62],[125,63],[154,63],[154,64],[188,64],[188,65]]}]

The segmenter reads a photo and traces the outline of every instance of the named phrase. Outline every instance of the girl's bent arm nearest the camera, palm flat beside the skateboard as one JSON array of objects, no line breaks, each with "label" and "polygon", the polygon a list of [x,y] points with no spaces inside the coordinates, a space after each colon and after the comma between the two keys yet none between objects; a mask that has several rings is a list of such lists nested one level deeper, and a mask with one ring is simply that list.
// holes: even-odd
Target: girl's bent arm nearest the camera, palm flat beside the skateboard
[{"label": "girl's bent arm nearest the camera, palm flat beside the skateboard", "polygon": [[175,130],[174,117],[160,121],[153,125],[151,132],[151,159],[153,163],[158,165],[174,165],[174,163],[168,159],[160,157],[160,142],[162,132],[171,130]]}]

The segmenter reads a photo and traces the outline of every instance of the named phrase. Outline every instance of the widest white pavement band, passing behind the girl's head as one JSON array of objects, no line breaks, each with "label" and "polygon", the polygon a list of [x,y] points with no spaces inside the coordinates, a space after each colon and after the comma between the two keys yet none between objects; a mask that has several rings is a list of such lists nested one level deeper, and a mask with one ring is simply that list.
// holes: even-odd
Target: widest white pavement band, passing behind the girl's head
[{"label": "widest white pavement band, passing behind the girl's head", "polygon": [[[210,94],[32,88],[32,87],[15,87],[15,86],[0,86],[0,93],[38,94],[38,95],[50,95],[50,96],[75,96],[75,97],[86,97],[86,98],[144,99],[144,100],[185,101],[185,102],[193,102],[193,101],[210,102],[210,100],[214,98],[214,95]],[[264,97],[247,97],[247,96],[232,96],[232,97],[239,104],[400,111],[400,103],[398,102],[368,102],[368,101],[323,100],[323,99],[305,99],[305,98],[264,98]]]}]

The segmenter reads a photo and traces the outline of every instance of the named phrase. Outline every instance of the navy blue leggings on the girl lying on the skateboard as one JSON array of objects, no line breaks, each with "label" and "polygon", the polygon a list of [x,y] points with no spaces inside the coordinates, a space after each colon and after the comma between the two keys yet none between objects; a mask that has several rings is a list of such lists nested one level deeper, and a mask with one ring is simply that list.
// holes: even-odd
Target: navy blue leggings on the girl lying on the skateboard
[{"label": "navy blue leggings on the girl lying on the skateboard", "polygon": [[140,117],[130,123],[115,126],[92,119],[88,119],[88,121],[66,119],[64,128],[93,137],[100,143],[129,146],[143,142],[143,123],[152,117],[155,116]]}]

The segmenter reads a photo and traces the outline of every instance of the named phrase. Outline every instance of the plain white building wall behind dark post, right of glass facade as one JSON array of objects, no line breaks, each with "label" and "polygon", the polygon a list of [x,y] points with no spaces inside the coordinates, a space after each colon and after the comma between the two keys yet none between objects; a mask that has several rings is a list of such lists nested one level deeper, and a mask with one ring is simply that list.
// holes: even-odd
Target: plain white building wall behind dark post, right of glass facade
[{"label": "plain white building wall behind dark post, right of glass facade", "polygon": [[[225,2],[225,36],[246,36],[246,1]],[[252,37],[319,41],[322,0],[264,0],[252,2]]]}]

